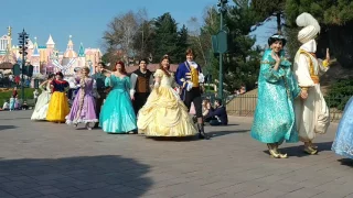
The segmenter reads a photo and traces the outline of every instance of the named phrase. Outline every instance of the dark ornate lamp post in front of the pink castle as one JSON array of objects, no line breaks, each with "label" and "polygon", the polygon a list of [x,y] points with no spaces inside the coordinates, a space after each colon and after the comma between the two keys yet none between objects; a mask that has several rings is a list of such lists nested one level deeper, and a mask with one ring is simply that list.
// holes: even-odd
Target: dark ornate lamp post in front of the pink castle
[{"label": "dark ornate lamp post in front of the pink castle", "polygon": [[22,102],[24,101],[24,78],[23,78],[23,73],[25,73],[25,56],[28,55],[28,44],[29,44],[29,36],[30,34],[28,34],[24,29],[21,33],[19,33],[19,47],[20,51],[19,53],[22,55],[22,67],[21,67],[21,98],[22,98]]}]

